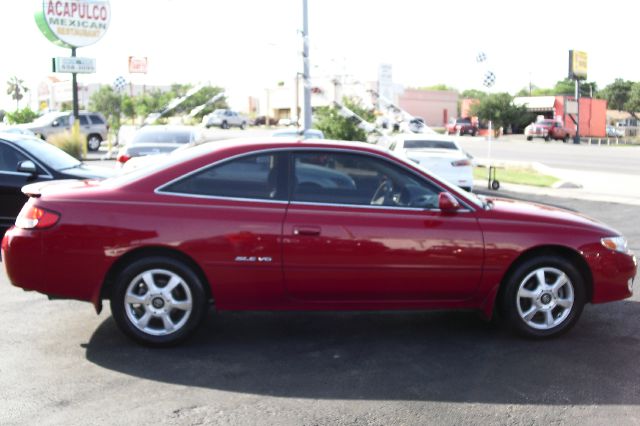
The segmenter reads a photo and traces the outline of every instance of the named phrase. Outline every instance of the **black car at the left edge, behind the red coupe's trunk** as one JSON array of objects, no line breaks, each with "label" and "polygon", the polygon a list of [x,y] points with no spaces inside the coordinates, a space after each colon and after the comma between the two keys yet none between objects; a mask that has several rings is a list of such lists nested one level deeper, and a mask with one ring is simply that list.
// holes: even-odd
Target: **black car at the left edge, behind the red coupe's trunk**
[{"label": "black car at the left edge, behind the red coupe's trunk", "polygon": [[0,235],[27,201],[24,185],[55,179],[104,179],[115,169],[90,166],[33,136],[0,133]]}]

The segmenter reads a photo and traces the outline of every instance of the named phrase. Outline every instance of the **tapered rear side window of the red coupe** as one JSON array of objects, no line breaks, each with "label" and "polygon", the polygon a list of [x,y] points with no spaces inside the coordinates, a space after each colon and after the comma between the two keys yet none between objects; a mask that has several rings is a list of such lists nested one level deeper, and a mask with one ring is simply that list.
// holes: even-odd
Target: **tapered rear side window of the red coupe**
[{"label": "tapered rear side window of the red coupe", "polygon": [[163,192],[215,197],[286,199],[286,156],[256,154],[236,158],[187,176]]}]

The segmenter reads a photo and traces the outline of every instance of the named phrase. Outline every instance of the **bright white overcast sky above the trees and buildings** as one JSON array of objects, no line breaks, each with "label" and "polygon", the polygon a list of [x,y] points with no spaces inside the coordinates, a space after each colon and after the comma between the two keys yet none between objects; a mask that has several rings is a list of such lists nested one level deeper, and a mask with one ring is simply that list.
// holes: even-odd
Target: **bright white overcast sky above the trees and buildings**
[{"label": "bright white overcast sky above the trees and buildings", "polygon": [[[0,26],[0,109],[13,110],[6,81],[17,76],[32,90],[51,73],[51,58],[69,56],[36,27],[37,0],[3,1]],[[104,37],[78,49],[96,59],[81,83],[210,83],[239,106],[302,71],[302,0],[111,0]],[[589,55],[589,80],[640,81],[635,47],[640,2],[575,0],[308,0],[311,76],[371,81],[381,63],[405,87],[446,84],[459,90],[514,93],[551,87],[567,74],[568,51]],[[10,6],[8,6],[10,5]],[[479,52],[487,60],[478,64]],[[128,74],[129,56],[146,56],[147,74]],[[59,74],[59,78],[68,75]],[[27,96],[28,99],[28,96]]]}]

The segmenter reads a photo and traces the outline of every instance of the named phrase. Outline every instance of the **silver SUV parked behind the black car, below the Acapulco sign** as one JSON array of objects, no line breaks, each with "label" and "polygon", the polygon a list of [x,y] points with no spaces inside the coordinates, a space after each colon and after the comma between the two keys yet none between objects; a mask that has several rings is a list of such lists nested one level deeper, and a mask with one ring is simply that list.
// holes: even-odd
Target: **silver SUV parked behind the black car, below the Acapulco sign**
[{"label": "silver SUV parked behind the black car, below the Acapulco sign", "polygon": [[[73,123],[71,115],[72,113],[69,111],[50,112],[38,117],[31,123],[22,124],[21,127],[32,131],[42,139],[47,139],[53,134],[71,130]],[[78,115],[80,118],[80,133],[87,138],[87,148],[89,151],[97,151],[102,141],[107,139],[107,133],[109,132],[107,120],[99,112],[81,111]]]}]

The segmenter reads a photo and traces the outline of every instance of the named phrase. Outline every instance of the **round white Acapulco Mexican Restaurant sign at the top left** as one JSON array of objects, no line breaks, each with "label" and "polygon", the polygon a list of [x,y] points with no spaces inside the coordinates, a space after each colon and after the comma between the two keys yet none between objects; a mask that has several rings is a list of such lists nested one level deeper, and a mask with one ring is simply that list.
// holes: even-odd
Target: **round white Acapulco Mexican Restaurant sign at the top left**
[{"label": "round white Acapulco Mexican Restaurant sign at the top left", "polygon": [[84,47],[100,40],[109,28],[108,0],[43,0],[36,12],[40,31],[61,47]]}]

